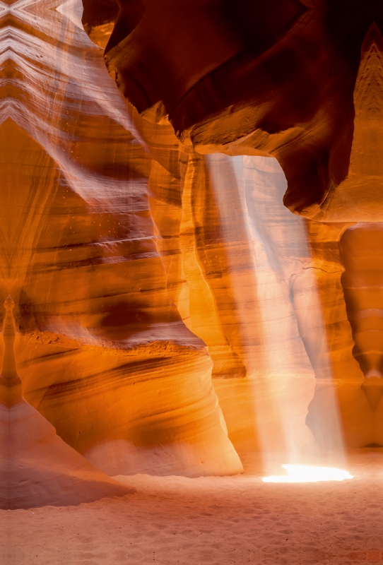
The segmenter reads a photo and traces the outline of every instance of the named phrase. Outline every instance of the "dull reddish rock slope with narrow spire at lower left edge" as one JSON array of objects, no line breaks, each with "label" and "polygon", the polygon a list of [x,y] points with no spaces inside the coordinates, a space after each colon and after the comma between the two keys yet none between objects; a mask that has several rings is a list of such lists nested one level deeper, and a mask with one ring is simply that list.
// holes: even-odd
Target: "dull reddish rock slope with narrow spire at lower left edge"
[{"label": "dull reddish rock slope with narrow spire at lower left edge", "polygon": [[4,359],[0,375],[0,508],[76,505],[134,489],[110,479],[60,439],[23,398],[13,352],[14,302],[4,303]]}]

